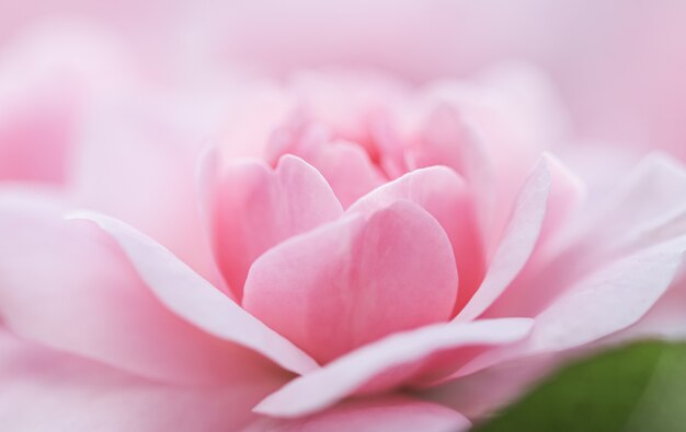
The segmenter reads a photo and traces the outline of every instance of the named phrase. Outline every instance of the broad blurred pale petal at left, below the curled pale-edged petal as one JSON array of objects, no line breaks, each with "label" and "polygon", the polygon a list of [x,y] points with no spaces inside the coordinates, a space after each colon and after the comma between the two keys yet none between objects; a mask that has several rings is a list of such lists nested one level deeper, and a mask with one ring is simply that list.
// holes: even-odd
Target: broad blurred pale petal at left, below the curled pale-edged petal
[{"label": "broad blurred pale petal at left, below the curled pale-edged petal", "polygon": [[0,315],[18,334],[174,383],[217,384],[267,366],[168,311],[110,238],[64,221],[57,205],[4,195],[0,233]]}]

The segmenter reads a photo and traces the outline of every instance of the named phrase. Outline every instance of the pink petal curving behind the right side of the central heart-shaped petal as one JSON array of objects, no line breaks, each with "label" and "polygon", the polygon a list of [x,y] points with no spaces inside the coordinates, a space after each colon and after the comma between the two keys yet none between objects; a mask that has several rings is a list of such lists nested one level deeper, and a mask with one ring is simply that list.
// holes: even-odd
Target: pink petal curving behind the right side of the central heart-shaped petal
[{"label": "pink petal curving behind the right side of the central heart-shaped petal", "polygon": [[461,308],[481,283],[485,266],[473,198],[453,170],[432,166],[415,170],[375,189],[351,206],[347,212],[370,214],[405,199],[436,218],[448,235],[455,254],[459,275],[456,308]]}]

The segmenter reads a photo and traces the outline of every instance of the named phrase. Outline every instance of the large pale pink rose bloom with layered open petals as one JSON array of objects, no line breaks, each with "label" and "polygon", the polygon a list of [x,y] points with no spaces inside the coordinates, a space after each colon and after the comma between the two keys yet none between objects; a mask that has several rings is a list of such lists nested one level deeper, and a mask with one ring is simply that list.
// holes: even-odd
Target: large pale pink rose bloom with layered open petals
[{"label": "large pale pink rose bloom with layered open petals", "polygon": [[185,94],[48,42],[0,77],[8,430],[459,431],[686,332],[686,172],[571,142],[534,70]]}]

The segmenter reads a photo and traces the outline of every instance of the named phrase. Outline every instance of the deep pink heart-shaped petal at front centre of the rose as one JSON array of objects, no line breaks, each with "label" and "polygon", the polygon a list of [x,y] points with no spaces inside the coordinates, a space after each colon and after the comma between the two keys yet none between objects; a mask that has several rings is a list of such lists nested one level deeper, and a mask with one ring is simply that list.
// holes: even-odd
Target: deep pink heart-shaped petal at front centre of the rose
[{"label": "deep pink heart-shaped petal at front centre of the rose", "polygon": [[441,225],[409,201],[344,218],[260,257],[243,306],[327,362],[392,331],[449,318],[457,291]]}]

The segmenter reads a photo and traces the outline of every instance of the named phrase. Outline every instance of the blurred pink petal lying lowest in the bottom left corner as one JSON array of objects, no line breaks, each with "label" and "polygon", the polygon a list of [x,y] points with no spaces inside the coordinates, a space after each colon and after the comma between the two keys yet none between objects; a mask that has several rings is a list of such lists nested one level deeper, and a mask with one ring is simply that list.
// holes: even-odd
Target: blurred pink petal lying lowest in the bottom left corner
[{"label": "blurred pink petal lying lowest in the bottom left corner", "polygon": [[0,423],[8,431],[226,432],[254,420],[250,408],[281,380],[168,386],[0,330]]}]

